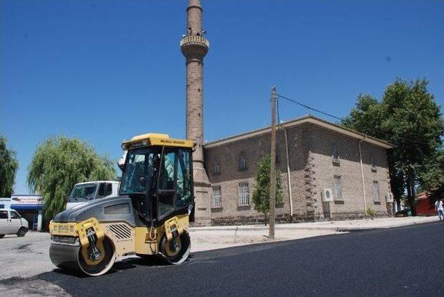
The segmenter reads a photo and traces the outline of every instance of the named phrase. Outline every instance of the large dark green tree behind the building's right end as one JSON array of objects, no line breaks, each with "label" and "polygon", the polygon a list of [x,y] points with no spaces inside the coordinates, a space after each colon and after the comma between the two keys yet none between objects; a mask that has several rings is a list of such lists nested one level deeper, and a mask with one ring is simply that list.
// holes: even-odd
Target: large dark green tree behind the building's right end
[{"label": "large dark green tree behind the building's right end", "polygon": [[443,183],[444,167],[436,163],[444,160],[439,157],[444,121],[427,84],[425,79],[397,78],[386,87],[382,101],[359,95],[356,107],[341,122],[395,145],[388,151],[391,189],[398,201],[407,191],[411,205],[418,186]]}]

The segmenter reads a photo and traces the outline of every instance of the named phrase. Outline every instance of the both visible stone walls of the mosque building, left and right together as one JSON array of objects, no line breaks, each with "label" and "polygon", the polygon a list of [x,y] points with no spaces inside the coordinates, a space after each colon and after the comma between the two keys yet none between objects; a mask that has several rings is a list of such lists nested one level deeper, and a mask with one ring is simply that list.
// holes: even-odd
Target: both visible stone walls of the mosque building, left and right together
[{"label": "both visible stone walls of the mosque building, left and right together", "polygon": [[[312,124],[303,124],[287,128],[293,199],[291,217],[284,130],[280,128],[277,133],[277,167],[282,172],[284,201],[276,208],[278,222],[350,219],[364,216],[358,141]],[[332,162],[332,144],[335,144],[339,151],[339,166]],[[372,207],[379,216],[386,216],[385,194],[390,192],[386,150],[368,144],[361,144],[361,148],[367,207]],[[221,187],[222,196],[222,207],[212,207],[213,224],[264,223],[264,214],[254,210],[252,196],[255,171],[262,157],[269,151],[269,134],[205,148],[207,175],[213,187]],[[247,160],[247,169],[244,171],[239,170],[241,155]],[[375,159],[376,171],[372,170],[372,159]],[[212,172],[214,162],[219,164],[217,174]],[[322,202],[321,191],[325,188],[334,188],[334,175],[341,176],[342,200],[326,204]],[[378,181],[379,203],[373,201],[373,180]],[[249,185],[250,203],[247,206],[238,206],[239,183],[244,182]]]}]

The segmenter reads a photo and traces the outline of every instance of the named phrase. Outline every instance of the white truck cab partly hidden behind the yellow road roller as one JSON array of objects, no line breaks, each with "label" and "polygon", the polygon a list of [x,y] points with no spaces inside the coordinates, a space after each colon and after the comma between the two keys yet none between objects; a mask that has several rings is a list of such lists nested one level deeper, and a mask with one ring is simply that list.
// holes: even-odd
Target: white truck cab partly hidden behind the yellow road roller
[{"label": "white truck cab partly hidden behind the yellow road roller", "polygon": [[66,209],[83,205],[99,198],[119,196],[119,182],[114,180],[96,180],[94,182],[78,183],[74,186],[68,198]]}]

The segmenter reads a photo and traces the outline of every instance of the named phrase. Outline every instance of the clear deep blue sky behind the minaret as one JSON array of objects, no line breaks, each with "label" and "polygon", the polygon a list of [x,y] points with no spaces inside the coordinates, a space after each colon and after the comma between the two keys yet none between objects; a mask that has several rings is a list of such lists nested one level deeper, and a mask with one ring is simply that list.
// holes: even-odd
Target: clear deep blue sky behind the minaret
[{"label": "clear deep blue sky behind the minaret", "polygon": [[[187,1],[1,1],[0,133],[15,192],[43,139],[117,159],[148,131],[185,137]],[[203,1],[205,139],[266,126],[272,85],[340,117],[359,93],[426,77],[443,105],[443,1]],[[280,103],[280,117],[309,113]],[[316,114],[316,113],[313,113]],[[325,118],[328,119],[328,118]],[[332,119],[329,119],[332,120]]]}]

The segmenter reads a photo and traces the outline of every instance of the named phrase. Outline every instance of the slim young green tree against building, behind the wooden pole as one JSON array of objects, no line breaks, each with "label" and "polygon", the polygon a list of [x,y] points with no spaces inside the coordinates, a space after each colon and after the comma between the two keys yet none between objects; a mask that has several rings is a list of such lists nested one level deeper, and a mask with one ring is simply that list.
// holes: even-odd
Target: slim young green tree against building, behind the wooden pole
[{"label": "slim young green tree against building, behind the wooden pole", "polygon": [[[270,210],[270,167],[271,157],[262,158],[255,174],[255,190],[253,192],[253,204],[255,210],[264,214],[266,225],[266,213]],[[276,170],[276,204],[282,203],[281,173]]]}]

